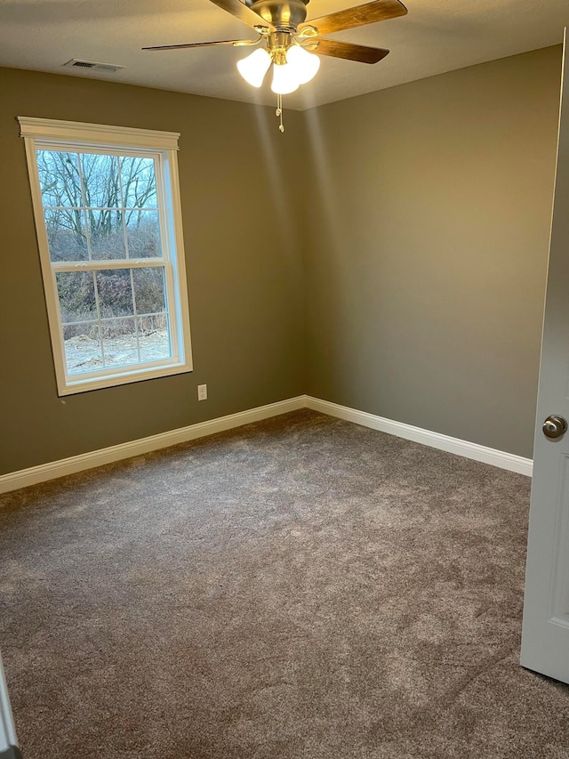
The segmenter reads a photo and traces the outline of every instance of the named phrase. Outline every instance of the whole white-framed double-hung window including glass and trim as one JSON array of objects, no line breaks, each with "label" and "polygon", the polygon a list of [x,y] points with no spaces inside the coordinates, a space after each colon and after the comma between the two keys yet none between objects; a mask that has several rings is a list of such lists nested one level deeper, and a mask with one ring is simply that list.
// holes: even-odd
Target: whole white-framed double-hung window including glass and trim
[{"label": "whole white-framed double-hung window including glass and trim", "polygon": [[59,394],[191,371],[179,135],[19,121]]}]

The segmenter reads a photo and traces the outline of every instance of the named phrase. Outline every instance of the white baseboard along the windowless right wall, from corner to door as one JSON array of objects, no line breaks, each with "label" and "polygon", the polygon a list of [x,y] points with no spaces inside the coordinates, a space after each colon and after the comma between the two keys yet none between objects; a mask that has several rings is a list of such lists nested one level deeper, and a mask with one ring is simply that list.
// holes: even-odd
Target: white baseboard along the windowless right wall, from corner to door
[{"label": "white baseboard along the windowless right wall, from corner to door", "polygon": [[405,440],[413,440],[416,443],[430,446],[430,448],[439,448],[457,456],[465,456],[474,461],[482,461],[484,464],[492,464],[501,469],[508,469],[510,472],[518,472],[528,477],[531,477],[533,473],[531,458],[516,456],[495,448],[486,448],[486,446],[470,443],[468,440],[451,438],[439,432],[429,432],[429,430],[423,430],[421,427],[413,427],[412,424],[394,422],[392,419],[385,419],[383,416],[357,411],[355,408],[340,406],[337,403],[331,403],[329,400],[320,400],[309,395],[306,396],[305,405],[306,408],[312,408],[313,411],[320,411],[322,414],[337,416],[347,422],[362,424],[364,427],[371,427],[373,430],[388,432],[390,435],[397,435],[397,437],[405,438]]}]

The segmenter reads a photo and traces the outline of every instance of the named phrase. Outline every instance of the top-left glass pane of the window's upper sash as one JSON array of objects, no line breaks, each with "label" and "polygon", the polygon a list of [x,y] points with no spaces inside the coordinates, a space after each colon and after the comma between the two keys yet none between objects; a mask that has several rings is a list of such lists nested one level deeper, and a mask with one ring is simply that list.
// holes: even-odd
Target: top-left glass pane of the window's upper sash
[{"label": "top-left glass pane of the window's upper sash", "polygon": [[44,206],[83,206],[76,153],[36,150]]}]

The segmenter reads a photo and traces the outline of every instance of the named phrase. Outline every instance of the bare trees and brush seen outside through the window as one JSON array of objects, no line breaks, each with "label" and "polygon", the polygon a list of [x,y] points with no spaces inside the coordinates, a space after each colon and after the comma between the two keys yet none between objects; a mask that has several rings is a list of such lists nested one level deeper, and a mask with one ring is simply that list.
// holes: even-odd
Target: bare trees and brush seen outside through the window
[{"label": "bare trees and brush seen outside through the window", "polygon": [[[104,262],[161,255],[154,160],[149,157],[40,149],[37,166],[52,262]],[[165,326],[164,270],[150,265],[57,272],[64,324],[96,319],[111,332],[133,319],[134,304],[150,326]],[[98,297],[97,297],[97,295]],[[84,327],[66,326],[66,339]]]}]

